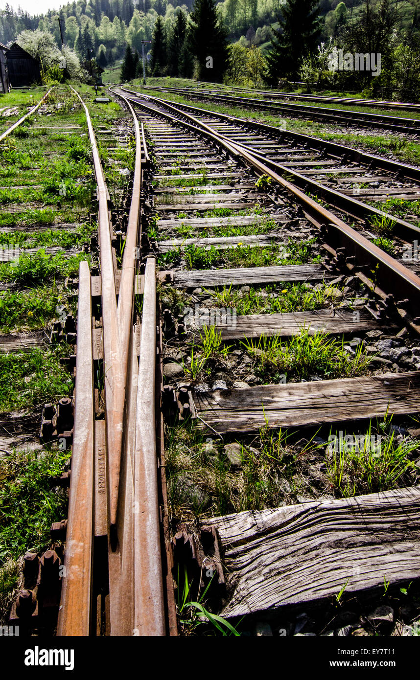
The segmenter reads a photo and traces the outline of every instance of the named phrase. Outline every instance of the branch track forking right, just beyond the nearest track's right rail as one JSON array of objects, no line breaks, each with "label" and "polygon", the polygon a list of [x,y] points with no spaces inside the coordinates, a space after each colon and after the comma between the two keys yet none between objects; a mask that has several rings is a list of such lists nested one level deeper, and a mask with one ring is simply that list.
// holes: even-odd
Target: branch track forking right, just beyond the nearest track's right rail
[{"label": "branch track forking right, just beyond the nearest track's right rail", "polygon": [[386,204],[389,197],[394,201],[416,201],[420,197],[417,167],[308,135],[280,131],[274,126],[204,112],[197,107],[157,98],[148,99],[159,102],[168,111],[185,112],[231,141],[246,146],[261,162],[289,178],[306,193],[341,210],[346,218],[352,216],[361,220],[368,232],[372,233],[374,224],[395,220],[398,237],[408,242],[416,238],[418,227],[413,222],[417,222],[418,216],[411,215],[408,220],[395,219],[383,210],[378,211],[372,203]]}]

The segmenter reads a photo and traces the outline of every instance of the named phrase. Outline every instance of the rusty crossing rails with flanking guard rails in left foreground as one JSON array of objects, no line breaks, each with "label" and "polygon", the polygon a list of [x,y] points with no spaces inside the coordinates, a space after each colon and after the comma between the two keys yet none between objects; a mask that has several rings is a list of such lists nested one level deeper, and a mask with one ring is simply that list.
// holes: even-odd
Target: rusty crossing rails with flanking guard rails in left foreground
[{"label": "rusty crossing rails with flanking guard rails in left foreground", "polygon": [[[82,104],[88,120],[99,199],[106,427],[104,436],[103,421],[95,420],[91,277],[87,263],[82,262],[76,417],[65,551],[69,577],[64,579],[58,634],[95,635],[103,631],[118,636],[176,634],[174,596],[169,592],[173,583],[167,577],[164,582],[165,564],[171,560],[161,549],[161,509],[165,515],[166,495],[159,469],[163,452],[161,447],[157,451],[157,428],[161,443],[162,424],[156,406],[160,409],[160,389],[158,393],[155,390],[161,376],[160,363],[157,370],[157,356],[161,362],[161,353],[153,258],[147,260],[144,275],[140,362],[133,325],[135,291],[140,286],[140,278],[135,275],[140,262],[142,141],[145,162],[148,160],[144,130],[127,101],[134,120],[136,150],[117,304],[108,190],[88,109]],[[98,492],[103,474],[101,452],[106,454],[106,498],[99,497]],[[103,545],[108,549],[103,549]],[[95,576],[99,571],[107,575],[105,587],[103,576],[101,579]]]}]

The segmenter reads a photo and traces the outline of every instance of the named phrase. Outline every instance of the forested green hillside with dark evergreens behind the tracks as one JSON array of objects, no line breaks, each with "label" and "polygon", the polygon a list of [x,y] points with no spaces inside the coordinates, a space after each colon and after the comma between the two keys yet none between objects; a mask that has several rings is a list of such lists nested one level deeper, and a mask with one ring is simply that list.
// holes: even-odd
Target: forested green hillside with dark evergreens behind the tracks
[{"label": "forested green hillside with dark evergreens behind the tracks", "polygon": [[[283,79],[304,80],[309,88],[418,87],[420,0],[178,1],[77,0],[38,16],[6,5],[0,11],[0,41],[17,39],[54,67],[61,27],[73,73],[79,60],[84,80],[89,72],[95,75],[96,65],[122,61],[123,80],[141,75],[138,54],[142,41],[151,41],[145,45],[149,75],[248,86],[277,86]],[[340,49],[381,54],[380,71],[334,73],[328,64]],[[54,59],[48,58],[51,50]]]}]

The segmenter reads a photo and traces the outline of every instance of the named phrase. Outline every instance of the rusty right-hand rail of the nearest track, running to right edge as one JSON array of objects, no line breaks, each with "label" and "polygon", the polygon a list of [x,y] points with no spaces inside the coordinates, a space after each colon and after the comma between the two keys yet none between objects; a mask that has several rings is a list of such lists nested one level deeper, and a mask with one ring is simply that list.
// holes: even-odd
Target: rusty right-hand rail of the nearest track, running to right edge
[{"label": "rusty right-hand rail of the nearest track, running to right edge", "polygon": [[[140,97],[142,97],[142,95],[140,95]],[[319,205],[319,203],[313,199],[310,199],[310,197],[306,196],[306,194],[297,188],[297,186],[288,182],[283,177],[280,177],[278,173],[274,172],[270,167],[256,158],[254,152],[242,148],[237,143],[229,140],[228,137],[220,135],[210,126],[197,120],[194,116],[191,116],[191,114],[179,111],[175,106],[172,106],[166,101],[162,101],[156,97],[148,97],[148,95],[143,95],[143,97],[152,99],[159,103],[159,105],[163,105],[169,109],[170,113],[166,114],[169,120],[174,120],[174,114],[176,114],[178,116],[176,119],[178,123],[183,124],[195,134],[202,135],[204,133],[208,139],[212,139],[216,144],[219,144],[219,146],[223,146],[223,148],[228,150],[236,158],[245,160],[248,165],[254,167],[261,175],[264,174],[272,177],[272,179],[282,186],[282,188],[287,190],[289,194],[297,199],[304,208],[306,216],[312,218],[314,224],[317,224],[317,226],[320,227],[324,226],[327,229],[329,239],[331,239],[333,243],[336,243],[337,247],[344,246],[347,255],[349,257],[356,256],[360,266],[377,267],[376,282],[383,291],[393,295],[398,294],[401,295],[402,298],[408,299],[412,306],[412,317],[413,319],[416,319],[416,321],[413,320],[410,322],[410,326],[417,333],[420,333],[420,325],[417,322],[417,317],[420,316],[420,278],[415,275],[415,273],[401,265],[400,262],[378,248],[374,243],[368,241],[364,236],[357,233],[355,229],[345,224],[332,212]],[[142,101],[136,103],[149,109]],[[160,112],[160,115],[165,117],[164,112]],[[189,122],[180,120],[179,116],[184,116]]]}]

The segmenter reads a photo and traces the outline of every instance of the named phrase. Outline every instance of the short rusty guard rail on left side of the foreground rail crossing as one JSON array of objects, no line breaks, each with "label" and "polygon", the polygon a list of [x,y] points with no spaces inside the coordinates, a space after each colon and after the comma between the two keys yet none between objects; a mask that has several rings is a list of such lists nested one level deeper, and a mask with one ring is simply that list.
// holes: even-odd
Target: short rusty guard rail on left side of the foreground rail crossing
[{"label": "short rusty guard rail on left side of the foreground rail crossing", "polygon": [[76,400],[71,485],[58,635],[91,632],[95,389],[93,386],[91,274],[80,262]]}]

